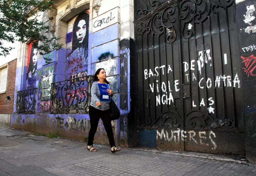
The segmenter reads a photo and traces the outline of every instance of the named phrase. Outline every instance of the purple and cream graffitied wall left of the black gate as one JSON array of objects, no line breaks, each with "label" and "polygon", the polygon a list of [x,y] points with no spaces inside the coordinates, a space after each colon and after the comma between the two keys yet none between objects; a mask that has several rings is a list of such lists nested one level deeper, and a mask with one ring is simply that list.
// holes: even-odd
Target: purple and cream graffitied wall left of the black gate
[{"label": "purple and cream graffitied wall left of the black gate", "polygon": [[[83,76],[93,75],[98,68],[105,68],[107,80],[114,91],[113,99],[122,116],[119,120],[112,121],[115,140],[122,146],[128,145],[127,118],[131,94],[134,94],[130,92],[130,80],[135,76],[130,70],[131,63],[134,64],[134,54],[130,52],[130,43],[134,43],[133,2],[102,0],[98,14],[93,9],[92,2],[58,1],[58,4],[53,4],[55,11],[50,16],[46,12],[38,15],[37,18],[51,26],[55,30],[54,35],[61,38],[59,43],[64,44],[61,50],[44,55],[52,58],[51,63],[46,64],[40,55],[36,57],[37,62],[32,63],[32,55],[36,52],[32,43],[19,44],[15,92],[37,88],[36,113],[13,114],[13,128],[40,133],[58,131],[63,136],[83,140],[83,137],[88,136],[90,128],[89,115],[50,114],[51,83],[68,79],[78,82],[83,80]],[[89,19],[86,13],[89,14]],[[53,21],[49,20],[51,16]],[[76,20],[80,17],[86,23],[83,30],[88,30],[85,36],[88,42],[81,42],[82,47],[74,39],[75,35],[79,35],[75,28]],[[79,76],[82,78],[78,78]],[[16,106],[16,102],[14,104]],[[102,121],[95,137],[96,143],[108,143]]]}]

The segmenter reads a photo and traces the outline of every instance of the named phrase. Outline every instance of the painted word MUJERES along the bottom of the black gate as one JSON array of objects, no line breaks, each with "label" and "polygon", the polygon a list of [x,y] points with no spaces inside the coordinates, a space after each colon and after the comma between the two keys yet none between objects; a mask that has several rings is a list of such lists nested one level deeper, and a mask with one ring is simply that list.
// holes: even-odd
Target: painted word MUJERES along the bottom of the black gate
[{"label": "painted word MUJERES along the bottom of the black gate", "polygon": [[194,130],[184,131],[178,128],[177,130],[171,130],[171,135],[169,138],[168,132],[167,131],[164,132],[164,129],[162,129],[161,133],[157,130],[157,139],[158,137],[160,139],[164,139],[165,141],[170,141],[175,143],[179,143],[180,141],[184,141],[184,140],[189,140],[194,142],[195,144],[207,145],[207,146],[210,145],[206,142],[208,140],[211,142],[212,150],[215,150],[217,148],[217,145],[213,140],[213,138],[216,138],[216,134],[213,131],[209,131],[209,133],[206,133],[205,131],[199,131],[196,133]]}]

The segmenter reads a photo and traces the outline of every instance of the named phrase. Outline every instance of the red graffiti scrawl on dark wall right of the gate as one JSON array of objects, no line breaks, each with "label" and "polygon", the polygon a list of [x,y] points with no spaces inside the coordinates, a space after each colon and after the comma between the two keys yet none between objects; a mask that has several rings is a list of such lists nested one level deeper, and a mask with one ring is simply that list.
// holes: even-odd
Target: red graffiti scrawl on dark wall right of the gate
[{"label": "red graffiti scrawl on dark wall right of the gate", "polygon": [[254,69],[256,68],[256,57],[251,55],[249,57],[241,56],[245,67],[243,67],[244,72],[246,73],[247,77],[249,76],[256,76]]}]

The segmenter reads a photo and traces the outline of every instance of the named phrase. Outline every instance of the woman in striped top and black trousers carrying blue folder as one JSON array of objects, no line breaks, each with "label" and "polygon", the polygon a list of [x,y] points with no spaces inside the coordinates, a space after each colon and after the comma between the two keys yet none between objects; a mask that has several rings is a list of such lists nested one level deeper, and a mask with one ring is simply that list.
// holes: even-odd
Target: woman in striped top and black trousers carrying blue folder
[{"label": "woman in striped top and black trousers carrying blue folder", "polygon": [[98,69],[93,77],[91,86],[91,104],[89,107],[89,116],[91,128],[88,136],[87,149],[89,151],[97,151],[93,147],[94,135],[97,131],[99,119],[101,118],[103,125],[106,129],[108,140],[111,146],[111,152],[115,153],[120,151],[120,147],[116,147],[113,129],[110,120],[110,96],[113,96],[110,90],[109,82],[106,80],[105,69]]}]

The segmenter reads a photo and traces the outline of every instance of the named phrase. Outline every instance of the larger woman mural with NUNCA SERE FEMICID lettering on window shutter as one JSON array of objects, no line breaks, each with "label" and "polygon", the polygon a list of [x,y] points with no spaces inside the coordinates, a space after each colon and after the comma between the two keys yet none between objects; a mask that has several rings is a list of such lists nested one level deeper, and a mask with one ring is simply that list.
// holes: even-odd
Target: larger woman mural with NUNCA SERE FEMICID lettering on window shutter
[{"label": "larger woman mural with NUNCA SERE FEMICID lettering on window shutter", "polygon": [[87,76],[89,11],[68,22],[66,80],[82,81]]}]

